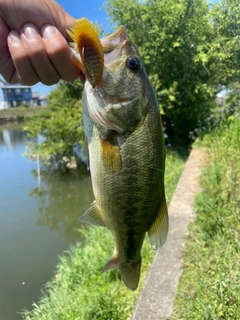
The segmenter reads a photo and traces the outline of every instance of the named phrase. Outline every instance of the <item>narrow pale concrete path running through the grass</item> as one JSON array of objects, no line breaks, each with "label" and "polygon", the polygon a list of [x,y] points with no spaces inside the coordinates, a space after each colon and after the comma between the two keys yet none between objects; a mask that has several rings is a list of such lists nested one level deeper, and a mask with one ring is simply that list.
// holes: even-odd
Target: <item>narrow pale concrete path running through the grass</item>
[{"label": "narrow pale concrete path running through the grass", "polygon": [[205,162],[204,150],[191,151],[168,208],[170,225],[167,241],[156,252],[132,320],[164,320],[173,311],[187,227],[194,219],[192,205],[195,195],[201,190],[199,176]]}]

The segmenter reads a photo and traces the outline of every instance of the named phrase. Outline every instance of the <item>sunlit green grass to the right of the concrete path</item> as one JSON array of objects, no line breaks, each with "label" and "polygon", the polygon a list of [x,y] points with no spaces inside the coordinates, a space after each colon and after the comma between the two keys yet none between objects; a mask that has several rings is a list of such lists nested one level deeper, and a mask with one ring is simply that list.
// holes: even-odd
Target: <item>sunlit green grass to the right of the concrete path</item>
[{"label": "sunlit green grass to the right of the concrete path", "polygon": [[189,228],[176,320],[240,319],[240,119],[203,141],[208,165]]}]

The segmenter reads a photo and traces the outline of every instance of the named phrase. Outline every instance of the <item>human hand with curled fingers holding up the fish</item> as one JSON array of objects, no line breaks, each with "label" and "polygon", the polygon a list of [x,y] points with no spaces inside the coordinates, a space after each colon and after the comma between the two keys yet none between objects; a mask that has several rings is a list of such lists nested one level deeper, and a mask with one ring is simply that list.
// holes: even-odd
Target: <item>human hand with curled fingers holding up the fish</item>
[{"label": "human hand with curled fingers holding up the fish", "polygon": [[75,19],[54,0],[0,0],[0,73],[13,84],[73,81],[82,73],[68,47]]}]

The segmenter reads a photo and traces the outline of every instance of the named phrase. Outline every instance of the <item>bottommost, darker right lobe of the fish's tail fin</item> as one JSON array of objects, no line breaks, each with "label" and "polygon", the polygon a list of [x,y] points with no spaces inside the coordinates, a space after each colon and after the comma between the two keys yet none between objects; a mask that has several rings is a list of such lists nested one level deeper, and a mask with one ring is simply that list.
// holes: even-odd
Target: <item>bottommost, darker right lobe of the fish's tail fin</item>
[{"label": "bottommost, darker right lobe of the fish's tail fin", "polygon": [[141,270],[141,258],[138,262],[129,263],[122,262],[119,265],[119,271],[121,274],[121,278],[130,290],[136,290],[138,287],[138,282],[140,278],[140,270]]}]

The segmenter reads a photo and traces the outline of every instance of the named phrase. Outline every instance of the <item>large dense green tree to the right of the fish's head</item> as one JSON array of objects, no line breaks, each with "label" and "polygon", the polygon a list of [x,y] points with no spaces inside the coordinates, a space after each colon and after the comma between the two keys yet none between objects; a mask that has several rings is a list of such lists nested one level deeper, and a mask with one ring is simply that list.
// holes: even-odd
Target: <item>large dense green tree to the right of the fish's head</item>
[{"label": "large dense green tree to the right of the fish's head", "polygon": [[[204,0],[108,0],[111,21],[125,25],[138,46],[160,107],[172,119],[178,138],[187,140],[215,106],[216,93],[239,78],[234,71],[239,60],[231,60],[238,30],[237,24],[229,27],[234,2],[211,8]],[[224,31],[221,23],[226,18]]]}]

